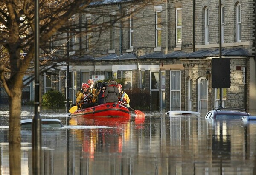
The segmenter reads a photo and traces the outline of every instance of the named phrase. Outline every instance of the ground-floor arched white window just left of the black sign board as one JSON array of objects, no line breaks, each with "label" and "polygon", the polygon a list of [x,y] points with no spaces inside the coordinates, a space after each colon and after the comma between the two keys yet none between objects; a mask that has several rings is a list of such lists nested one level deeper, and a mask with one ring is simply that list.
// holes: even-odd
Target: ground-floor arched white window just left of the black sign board
[{"label": "ground-floor arched white window just left of the black sign board", "polygon": [[208,107],[208,87],[207,79],[202,77],[198,79],[198,111]]}]

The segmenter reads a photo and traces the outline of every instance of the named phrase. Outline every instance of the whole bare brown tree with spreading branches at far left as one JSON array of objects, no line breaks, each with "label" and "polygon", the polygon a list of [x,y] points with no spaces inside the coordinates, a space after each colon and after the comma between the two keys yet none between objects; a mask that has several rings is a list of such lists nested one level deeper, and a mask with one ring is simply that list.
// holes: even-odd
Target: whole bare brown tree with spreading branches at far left
[{"label": "whole bare brown tree with spreading branches at far left", "polygon": [[[136,1],[136,0],[135,0]],[[104,1],[101,1],[102,3]],[[124,0],[127,2],[133,2]],[[145,1],[138,3],[133,8],[133,13],[143,8]],[[99,3],[99,2],[98,2]],[[90,8],[91,6],[94,8]],[[100,4],[99,4],[100,5]],[[57,54],[55,51],[65,53],[67,33],[73,32],[97,32],[98,36],[109,27],[109,21],[99,20],[102,16],[109,15],[109,11],[97,9],[99,6],[93,0],[40,0],[39,19],[40,31],[39,42],[42,57],[55,57],[55,62],[67,61],[67,55]],[[87,30],[83,25],[70,24],[68,21],[75,14],[89,11],[97,18]],[[120,13],[115,19],[122,20],[129,14]],[[96,23],[96,20],[101,21]],[[113,21],[115,23],[116,21]],[[88,30],[89,29],[89,30]],[[21,95],[24,87],[23,77],[33,71],[34,59],[34,0],[1,0],[0,2],[0,80],[9,97],[9,165],[10,174],[21,174],[20,169],[20,113]],[[51,42],[59,41],[52,50]],[[51,49],[50,49],[51,48]],[[80,51],[83,48],[79,48]],[[43,55],[44,54],[44,55]],[[84,50],[86,54],[86,50]],[[47,59],[52,60],[52,59]],[[47,71],[46,66],[52,65],[51,61],[41,61],[41,73]],[[53,65],[54,66],[54,65]]]}]

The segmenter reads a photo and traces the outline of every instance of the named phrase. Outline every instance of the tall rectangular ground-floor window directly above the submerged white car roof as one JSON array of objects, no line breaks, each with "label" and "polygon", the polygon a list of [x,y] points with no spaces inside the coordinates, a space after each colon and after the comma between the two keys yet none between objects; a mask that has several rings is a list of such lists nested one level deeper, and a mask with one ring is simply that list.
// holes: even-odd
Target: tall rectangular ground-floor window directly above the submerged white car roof
[{"label": "tall rectangular ground-floor window directly above the submerged white car roof", "polygon": [[181,81],[180,81],[180,71],[171,71],[170,72],[170,109],[171,110],[180,110],[181,108]]}]

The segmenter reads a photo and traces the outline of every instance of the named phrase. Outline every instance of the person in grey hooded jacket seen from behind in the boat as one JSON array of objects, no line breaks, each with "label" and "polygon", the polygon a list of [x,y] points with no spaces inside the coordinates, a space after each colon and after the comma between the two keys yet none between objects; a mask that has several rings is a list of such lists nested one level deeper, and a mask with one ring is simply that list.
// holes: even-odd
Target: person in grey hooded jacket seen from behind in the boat
[{"label": "person in grey hooded jacket seen from behind in the boat", "polygon": [[119,91],[117,82],[113,79],[109,80],[108,87],[105,90],[104,98],[105,103],[118,103]]}]

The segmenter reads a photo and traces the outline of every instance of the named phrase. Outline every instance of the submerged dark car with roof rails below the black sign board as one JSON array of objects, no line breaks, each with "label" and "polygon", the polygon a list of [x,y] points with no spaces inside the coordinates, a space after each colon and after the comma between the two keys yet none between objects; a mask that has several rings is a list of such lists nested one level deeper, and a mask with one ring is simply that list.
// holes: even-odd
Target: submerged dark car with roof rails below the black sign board
[{"label": "submerged dark car with roof rails below the black sign board", "polygon": [[205,115],[205,119],[241,119],[243,116],[250,116],[250,113],[240,108],[215,107]]}]

